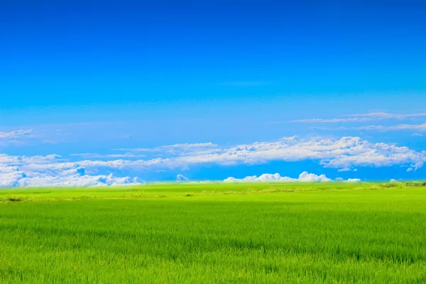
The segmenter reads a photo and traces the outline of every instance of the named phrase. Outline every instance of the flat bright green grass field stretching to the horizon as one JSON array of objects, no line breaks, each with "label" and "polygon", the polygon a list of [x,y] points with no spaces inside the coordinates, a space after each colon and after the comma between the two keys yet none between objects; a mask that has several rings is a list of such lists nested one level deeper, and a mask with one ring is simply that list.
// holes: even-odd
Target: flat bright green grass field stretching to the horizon
[{"label": "flat bright green grass field stretching to the horizon", "polygon": [[426,185],[0,190],[0,283],[426,283]]}]

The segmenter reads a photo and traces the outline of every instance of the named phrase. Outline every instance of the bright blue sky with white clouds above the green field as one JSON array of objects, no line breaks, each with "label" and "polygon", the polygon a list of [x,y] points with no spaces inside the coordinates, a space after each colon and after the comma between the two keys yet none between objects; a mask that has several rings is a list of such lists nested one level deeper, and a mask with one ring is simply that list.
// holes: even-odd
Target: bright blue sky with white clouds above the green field
[{"label": "bright blue sky with white clouds above the green field", "polygon": [[2,2],[0,186],[424,180],[425,12]]}]

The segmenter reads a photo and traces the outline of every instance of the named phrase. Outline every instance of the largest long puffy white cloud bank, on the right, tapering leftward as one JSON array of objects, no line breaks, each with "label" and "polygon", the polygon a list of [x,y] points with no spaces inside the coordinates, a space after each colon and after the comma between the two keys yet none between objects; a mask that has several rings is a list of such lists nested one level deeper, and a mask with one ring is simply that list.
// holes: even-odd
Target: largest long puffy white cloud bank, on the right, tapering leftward
[{"label": "largest long puffy white cloud bank, on the right, tapering leftward", "polygon": [[426,161],[426,152],[388,143],[369,143],[359,137],[312,139],[283,138],[275,142],[256,142],[222,149],[219,153],[193,153],[180,157],[158,159],[156,162],[172,167],[203,163],[220,165],[261,164],[271,160],[317,160],[327,168],[353,166],[382,167],[413,163],[420,168]]}]

